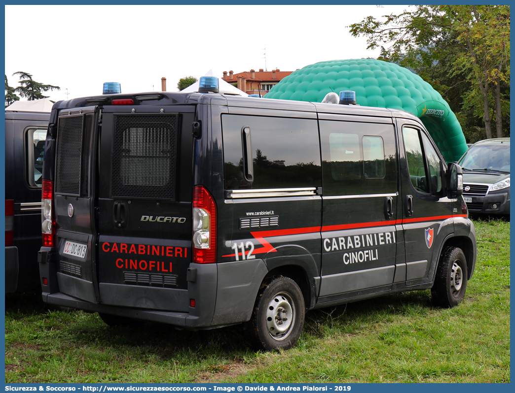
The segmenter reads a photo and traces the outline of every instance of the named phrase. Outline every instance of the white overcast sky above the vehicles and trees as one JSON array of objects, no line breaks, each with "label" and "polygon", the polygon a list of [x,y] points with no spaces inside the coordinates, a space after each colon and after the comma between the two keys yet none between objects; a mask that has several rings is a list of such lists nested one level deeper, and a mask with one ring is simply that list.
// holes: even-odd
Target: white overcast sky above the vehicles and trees
[{"label": "white overcast sky above the vehicles and trees", "polygon": [[[19,86],[23,71],[60,86],[53,101],[102,93],[120,82],[122,93],[177,91],[180,78],[212,69],[222,77],[259,70],[294,71],[320,61],[377,57],[365,38],[349,33],[366,16],[407,6],[5,6],[5,73]],[[25,28],[24,21],[51,21]],[[37,24],[37,22],[35,22]],[[265,50],[266,48],[266,50]],[[265,57],[266,53],[266,57]],[[265,63],[266,61],[266,63]]]}]

